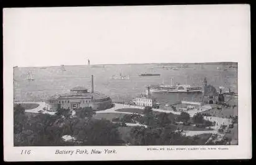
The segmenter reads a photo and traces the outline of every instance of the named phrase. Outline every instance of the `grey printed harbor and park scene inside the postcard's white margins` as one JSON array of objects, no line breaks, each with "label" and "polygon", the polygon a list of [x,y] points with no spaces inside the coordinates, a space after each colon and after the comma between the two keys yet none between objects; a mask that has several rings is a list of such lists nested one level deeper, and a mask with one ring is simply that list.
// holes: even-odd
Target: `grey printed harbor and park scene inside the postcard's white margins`
[{"label": "grey printed harbor and park scene inside the postcard's white margins", "polygon": [[237,63],[14,68],[14,146],[236,145]]}]

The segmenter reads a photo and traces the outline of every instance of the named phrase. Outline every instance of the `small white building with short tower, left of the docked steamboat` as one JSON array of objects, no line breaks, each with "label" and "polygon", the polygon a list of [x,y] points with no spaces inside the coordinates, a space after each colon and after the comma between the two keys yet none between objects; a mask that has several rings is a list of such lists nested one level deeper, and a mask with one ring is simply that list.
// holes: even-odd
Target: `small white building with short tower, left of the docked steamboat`
[{"label": "small white building with short tower, left of the docked steamboat", "polygon": [[156,105],[156,98],[152,97],[149,93],[149,87],[146,89],[146,94],[141,94],[134,100],[136,105],[139,106],[151,106],[154,107]]}]

